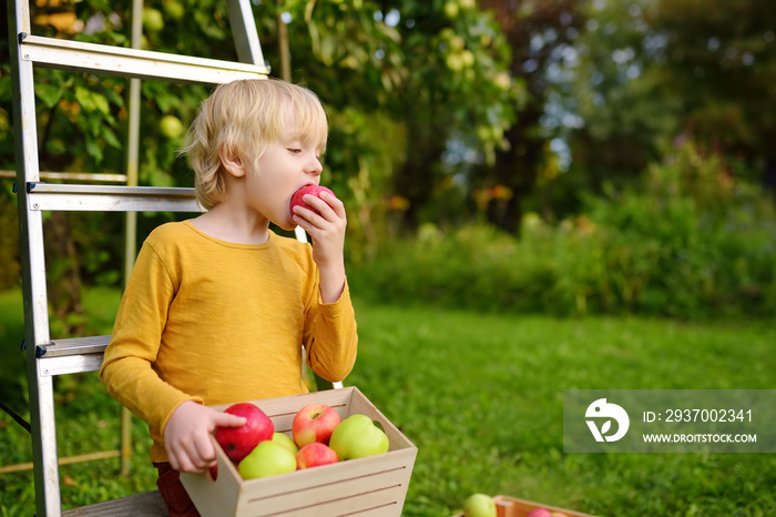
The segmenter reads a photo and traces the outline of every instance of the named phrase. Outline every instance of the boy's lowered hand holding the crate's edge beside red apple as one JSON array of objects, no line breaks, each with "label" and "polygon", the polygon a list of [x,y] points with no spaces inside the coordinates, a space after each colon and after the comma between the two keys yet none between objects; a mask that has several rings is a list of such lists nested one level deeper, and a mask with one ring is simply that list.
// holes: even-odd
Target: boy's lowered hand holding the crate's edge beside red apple
[{"label": "boy's lowered hand holding the crate's edge beside red apple", "polygon": [[239,427],[242,416],[222,413],[186,401],[170,416],[164,427],[164,449],[175,470],[200,474],[215,465],[215,448],[208,435],[216,427]]}]

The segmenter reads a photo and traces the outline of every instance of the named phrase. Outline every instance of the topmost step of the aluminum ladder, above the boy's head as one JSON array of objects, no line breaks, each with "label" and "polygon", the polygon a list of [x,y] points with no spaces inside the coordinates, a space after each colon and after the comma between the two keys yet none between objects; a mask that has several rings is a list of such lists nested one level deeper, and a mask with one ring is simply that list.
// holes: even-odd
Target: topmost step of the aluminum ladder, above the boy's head
[{"label": "topmost step of the aluminum ladder, above the boy's head", "polygon": [[23,60],[58,70],[194,84],[266,79],[269,74],[269,69],[263,64],[193,58],[25,33],[19,36]]}]

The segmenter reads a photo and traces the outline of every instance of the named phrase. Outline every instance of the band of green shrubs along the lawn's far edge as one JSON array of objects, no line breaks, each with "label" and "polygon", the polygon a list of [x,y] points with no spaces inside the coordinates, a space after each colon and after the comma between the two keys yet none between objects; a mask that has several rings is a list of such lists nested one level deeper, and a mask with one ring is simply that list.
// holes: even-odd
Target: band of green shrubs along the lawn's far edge
[{"label": "band of green shrubs along the lawn's far edge", "polygon": [[641,189],[589,196],[557,226],[523,217],[515,240],[488,226],[421,227],[392,241],[354,291],[371,300],[550,314],[683,318],[774,315],[773,200],[687,144]]}]

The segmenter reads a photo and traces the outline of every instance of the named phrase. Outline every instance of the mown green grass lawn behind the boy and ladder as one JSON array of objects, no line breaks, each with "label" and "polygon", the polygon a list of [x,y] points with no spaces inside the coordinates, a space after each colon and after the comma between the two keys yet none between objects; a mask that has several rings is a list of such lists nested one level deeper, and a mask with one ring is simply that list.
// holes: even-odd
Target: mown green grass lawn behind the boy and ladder
[{"label": "mown green grass lawn behind the boy and ladder", "polygon": [[[0,326],[12,334],[20,327],[8,321],[6,300]],[[114,300],[96,303],[109,320]],[[562,453],[563,389],[774,388],[770,322],[558,320],[365,304],[357,315],[359,358],[346,385],[357,385],[419,449],[405,515],[449,516],[473,491],[602,516],[776,514],[770,454]],[[20,338],[8,337],[7,354],[20,355]],[[0,371],[4,384],[6,363]],[[119,446],[118,406],[94,375],[59,378],[57,403],[62,455]],[[132,477],[115,476],[118,459],[63,466],[65,507],[154,488],[147,432],[136,419],[133,432]],[[30,460],[29,436],[4,415],[0,436],[3,465]],[[30,473],[0,476],[0,516],[33,511]]]}]

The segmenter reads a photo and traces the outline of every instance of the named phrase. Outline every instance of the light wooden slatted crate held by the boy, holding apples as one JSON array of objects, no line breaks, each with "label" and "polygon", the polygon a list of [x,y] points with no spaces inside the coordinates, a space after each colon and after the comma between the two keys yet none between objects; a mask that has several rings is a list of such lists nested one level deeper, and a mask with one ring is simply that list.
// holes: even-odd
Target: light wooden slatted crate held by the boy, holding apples
[{"label": "light wooden slatted crate held by the boy, holding apples", "polygon": [[[348,459],[333,465],[243,480],[235,465],[216,445],[218,476],[181,474],[181,481],[203,517],[228,516],[399,516],[404,508],[417,447],[356,387],[289,397],[252,401],[292,436],[296,412],[307,404],[326,404],[341,418],[356,413],[382,425],[388,435],[386,454]],[[224,409],[228,405],[213,406]]]}]

